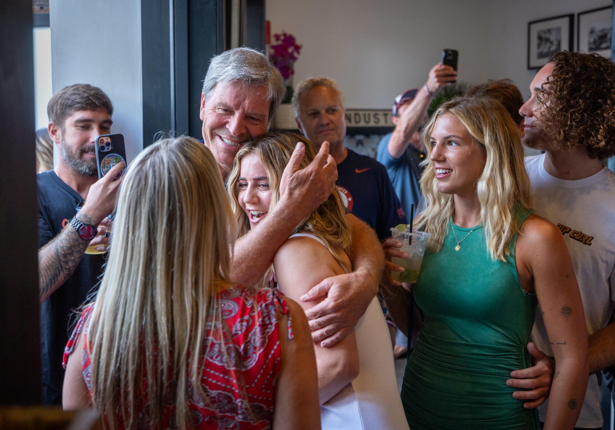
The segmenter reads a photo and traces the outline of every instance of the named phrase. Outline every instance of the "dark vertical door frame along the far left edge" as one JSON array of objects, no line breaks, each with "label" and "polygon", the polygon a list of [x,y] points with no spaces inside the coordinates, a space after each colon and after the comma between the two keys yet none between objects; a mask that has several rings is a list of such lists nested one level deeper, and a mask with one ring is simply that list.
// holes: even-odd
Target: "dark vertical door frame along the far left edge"
[{"label": "dark vertical door frame along the far left edge", "polygon": [[41,402],[32,2],[0,5],[0,404]]}]

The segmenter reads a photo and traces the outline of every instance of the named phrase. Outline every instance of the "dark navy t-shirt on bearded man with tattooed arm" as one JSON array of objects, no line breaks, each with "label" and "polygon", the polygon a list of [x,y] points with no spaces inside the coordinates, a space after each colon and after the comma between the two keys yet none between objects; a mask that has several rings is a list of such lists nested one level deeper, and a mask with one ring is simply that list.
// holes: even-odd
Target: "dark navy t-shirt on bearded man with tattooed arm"
[{"label": "dark navy t-shirt on bearded man with tattooed arm", "polygon": [[[83,199],[53,170],[36,175],[38,185],[39,249],[48,244],[74,217]],[[62,403],[62,354],[70,335],[74,311],[98,288],[105,254],[85,254],[73,274],[41,304],[42,398],[45,404]]]}]

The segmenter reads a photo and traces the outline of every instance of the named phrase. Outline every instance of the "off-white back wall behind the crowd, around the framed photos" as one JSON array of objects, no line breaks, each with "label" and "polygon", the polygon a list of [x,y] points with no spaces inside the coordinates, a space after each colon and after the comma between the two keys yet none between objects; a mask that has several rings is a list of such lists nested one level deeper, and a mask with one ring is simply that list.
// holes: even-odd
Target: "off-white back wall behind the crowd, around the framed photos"
[{"label": "off-white back wall behind the crowd, around the framed photos", "polygon": [[528,22],[608,6],[610,0],[268,0],[271,36],[303,44],[295,85],[338,82],[348,108],[389,108],[426,81],[443,48],[459,50],[459,81],[510,78],[529,95]]}]

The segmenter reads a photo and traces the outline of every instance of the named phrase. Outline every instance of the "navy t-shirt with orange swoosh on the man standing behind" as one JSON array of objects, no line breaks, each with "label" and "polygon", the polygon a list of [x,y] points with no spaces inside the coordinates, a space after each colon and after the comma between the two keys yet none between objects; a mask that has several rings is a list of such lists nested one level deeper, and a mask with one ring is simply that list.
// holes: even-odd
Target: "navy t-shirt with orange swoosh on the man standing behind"
[{"label": "navy t-shirt with orange swoosh on the man standing behind", "polygon": [[391,227],[407,224],[389,175],[378,161],[348,149],[338,164],[336,185],[346,209],[375,229],[378,239],[391,237]]}]

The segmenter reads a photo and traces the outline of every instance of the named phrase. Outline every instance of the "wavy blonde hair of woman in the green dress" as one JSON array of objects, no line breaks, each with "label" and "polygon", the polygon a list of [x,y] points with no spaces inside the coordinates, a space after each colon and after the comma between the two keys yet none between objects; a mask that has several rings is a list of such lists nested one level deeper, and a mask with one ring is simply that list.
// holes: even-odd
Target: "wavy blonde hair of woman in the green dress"
[{"label": "wavy blonde hair of woman in the green dress", "polygon": [[532,205],[530,179],[523,163],[518,127],[504,106],[490,98],[454,98],[440,106],[429,120],[423,135],[428,156],[421,177],[426,209],[419,215],[416,228],[432,234],[427,246],[431,252],[437,252],[442,247],[455,209],[453,195],[438,191],[435,170],[429,162],[432,151],[429,137],[435,121],[443,114],[452,114],[459,119],[486,154],[485,168],[477,183],[480,218],[485,223],[486,245],[491,258],[506,261],[512,236],[520,227],[513,210],[515,207],[530,209]]}]

